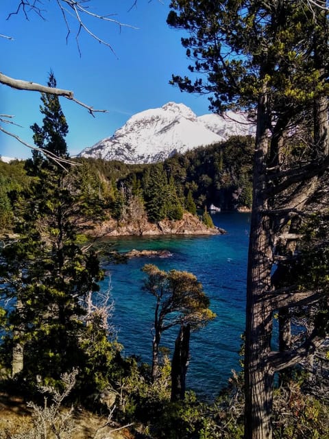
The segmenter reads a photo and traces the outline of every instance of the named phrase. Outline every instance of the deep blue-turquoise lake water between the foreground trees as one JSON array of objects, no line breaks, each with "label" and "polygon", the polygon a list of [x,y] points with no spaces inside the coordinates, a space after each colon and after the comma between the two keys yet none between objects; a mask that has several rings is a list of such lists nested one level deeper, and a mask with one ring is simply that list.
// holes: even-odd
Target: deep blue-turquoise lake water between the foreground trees
[{"label": "deep blue-turquoise lake water between the foreground trees", "polygon": [[[217,318],[200,331],[191,334],[191,361],[186,384],[198,394],[212,398],[226,385],[231,370],[239,370],[241,333],[245,322],[245,283],[249,214],[217,213],[215,225],[225,228],[226,235],[202,237],[122,237],[110,239],[119,250],[132,248],[165,249],[169,258],[135,258],[127,264],[108,265],[114,299],[113,323],[125,355],[138,355],[151,361],[154,297],[143,291],[145,263],[162,270],[193,272],[210,298],[210,308]],[[108,287],[108,278],[103,282]],[[178,329],[163,333],[162,344],[173,349]]]}]

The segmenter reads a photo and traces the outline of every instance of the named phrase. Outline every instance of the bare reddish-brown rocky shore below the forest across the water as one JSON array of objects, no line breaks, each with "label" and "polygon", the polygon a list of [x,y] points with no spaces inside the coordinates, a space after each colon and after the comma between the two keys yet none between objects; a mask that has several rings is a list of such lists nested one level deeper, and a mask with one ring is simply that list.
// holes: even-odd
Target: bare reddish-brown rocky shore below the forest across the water
[{"label": "bare reddish-brown rocky shore below the forest across the water", "polygon": [[147,222],[142,217],[134,222],[117,222],[108,219],[96,226],[93,235],[110,236],[152,236],[152,235],[221,235],[226,233],[222,228],[209,228],[198,217],[184,213],[182,219],[163,219],[157,224]]}]

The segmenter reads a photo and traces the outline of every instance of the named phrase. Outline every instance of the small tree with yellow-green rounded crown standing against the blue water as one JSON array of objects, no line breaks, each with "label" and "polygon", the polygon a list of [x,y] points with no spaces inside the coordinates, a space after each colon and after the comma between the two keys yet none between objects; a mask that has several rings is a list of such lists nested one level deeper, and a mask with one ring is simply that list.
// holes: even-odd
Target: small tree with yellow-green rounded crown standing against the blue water
[{"label": "small tree with yellow-green rounded crown standing against the blue water", "polygon": [[[145,291],[156,298],[154,310],[154,339],[152,349],[152,378],[158,377],[158,354],[162,333],[179,326],[180,333],[175,344],[172,369],[171,399],[184,399],[184,382],[187,370],[189,333],[197,331],[213,320],[216,315],[209,309],[210,300],[204,293],[202,284],[192,273],[171,270],[164,272],[156,265],[143,267],[147,274]],[[180,343],[182,334],[184,342]]]}]

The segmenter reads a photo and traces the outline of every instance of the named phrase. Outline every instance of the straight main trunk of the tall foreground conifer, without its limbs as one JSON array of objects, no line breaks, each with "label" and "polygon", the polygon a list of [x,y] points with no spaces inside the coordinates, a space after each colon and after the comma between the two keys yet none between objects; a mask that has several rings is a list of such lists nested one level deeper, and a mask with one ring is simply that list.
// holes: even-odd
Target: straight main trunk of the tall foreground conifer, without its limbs
[{"label": "straight main trunk of the tall foreground conifer, without its limbs", "polygon": [[271,289],[273,265],[271,220],[265,189],[269,148],[267,89],[258,102],[254,189],[249,238],[245,328],[245,439],[271,439],[273,371],[270,351],[272,311],[263,295]]}]

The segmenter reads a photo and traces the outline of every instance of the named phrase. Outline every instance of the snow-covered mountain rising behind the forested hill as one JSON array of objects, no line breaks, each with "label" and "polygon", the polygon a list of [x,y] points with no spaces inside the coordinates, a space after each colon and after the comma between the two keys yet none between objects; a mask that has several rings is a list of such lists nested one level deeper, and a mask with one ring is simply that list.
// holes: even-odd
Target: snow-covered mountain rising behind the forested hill
[{"label": "snow-covered mountain rising behind the forested hill", "polygon": [[242,113],[226,117],[197,117],[184,104],[169,102],[161,108],[138,112],[112,137],[84,149],[78,156],[119,160],[125,163],[154,163],[197,146],[210,145],[232,135],[253,134],[254,126]]}]

